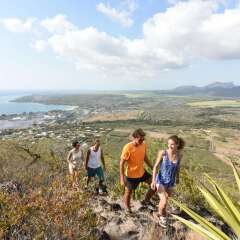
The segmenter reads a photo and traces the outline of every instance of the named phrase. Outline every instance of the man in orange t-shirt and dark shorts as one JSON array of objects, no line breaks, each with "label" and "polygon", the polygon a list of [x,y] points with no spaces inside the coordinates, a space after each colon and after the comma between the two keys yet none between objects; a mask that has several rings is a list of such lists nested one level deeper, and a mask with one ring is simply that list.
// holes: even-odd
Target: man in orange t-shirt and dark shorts
[{"label": "man in orange t-shirt and dark shorts", "polygon": [[[139,183],[145,182],[149,184],[149,190],[146,193],[145,199],[141,202],[143,205],[149,204],[150,198],[154,194],[154,191],[150,187],[152,175],[144,169],[144,163],[152,169],[144,142],[145,132],[139,128],[133,132],[132,137],[132,142],[124,146],[120,161],[120,182],[122,186],[125,186],[124,204],[126,211],[129,213],[132,212],[130,205],[131,195]],[[127,165],[126,175],[124,175],[125,164]]]}]

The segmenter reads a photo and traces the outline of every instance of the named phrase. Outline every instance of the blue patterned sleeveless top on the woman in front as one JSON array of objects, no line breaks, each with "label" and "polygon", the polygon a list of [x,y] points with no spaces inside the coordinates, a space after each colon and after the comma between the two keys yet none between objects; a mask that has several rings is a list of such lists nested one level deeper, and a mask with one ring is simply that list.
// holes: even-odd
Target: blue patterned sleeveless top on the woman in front
[{"label": "blue patterned sleeveless top on the woman in front", "polygon": [[179,168],[179,163],[179,157],[177,157],[176,163],[173,163],[169,160],[167,151],[164,151],[160,170],[156,177],[157,184],[161,184],[167,188],[173,187],[175,185],[176,173]]}]

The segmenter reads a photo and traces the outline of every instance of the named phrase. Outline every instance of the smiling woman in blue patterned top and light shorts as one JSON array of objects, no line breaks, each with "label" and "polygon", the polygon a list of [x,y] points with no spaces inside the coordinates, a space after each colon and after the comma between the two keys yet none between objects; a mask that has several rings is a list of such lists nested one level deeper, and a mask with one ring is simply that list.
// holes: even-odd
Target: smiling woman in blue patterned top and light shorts
[{"label": "smiling woman in blue patterned top and light shorts", "polygon": [[[167,226],[166,207],[168,197],[171,196],[175,183],[179,183],[180,162],[183,156],[181,150],[184,148],[185,142],[182,138],[173,135],[168,138],[167,144],[167,150],[159,151],[153,168],[151,184],[152,189],[157,190],[160,197],[158,222],[164,228]],[[160,170],[157,173],[159,166]]]}]

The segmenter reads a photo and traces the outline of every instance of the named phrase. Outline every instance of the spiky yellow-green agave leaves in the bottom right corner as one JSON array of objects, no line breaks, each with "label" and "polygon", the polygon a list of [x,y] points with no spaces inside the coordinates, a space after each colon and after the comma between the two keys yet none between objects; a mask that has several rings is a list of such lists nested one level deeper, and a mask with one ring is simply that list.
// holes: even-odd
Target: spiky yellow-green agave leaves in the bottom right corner
[{"label": "spiky yellow-green agave leaves in the bottom right corner", "polygon": [[[234,172],[234,176],[236,178],[237,186],[240,193],[240,175],[231,162],[231,166]],[[212,207],[212,209],[220,216],[223,221],[232,229],[232,231],[236,234],[238,239],[240,239],[240,204],[234,204],[233,201],[229,198],[229,196],[223,191],[223,189],[207,174],[205,174],[210,184],[215,189],[215,194],[209,190],[206,186],[202,185],[198,187],[202,192],[204,198]],[[172,201],[178,205],[184,212],[186,212],[190,217],[192,217],[196,223],[188,221],[182,217],[173,214],[173,217],[187,225],[189,228],[200,234],[204,237],[204,239],[208,240],[231,240],[229,236],[227,236],[223,231],[214,226],[211,222],[207,221],[185,205],[175,201]]]}]

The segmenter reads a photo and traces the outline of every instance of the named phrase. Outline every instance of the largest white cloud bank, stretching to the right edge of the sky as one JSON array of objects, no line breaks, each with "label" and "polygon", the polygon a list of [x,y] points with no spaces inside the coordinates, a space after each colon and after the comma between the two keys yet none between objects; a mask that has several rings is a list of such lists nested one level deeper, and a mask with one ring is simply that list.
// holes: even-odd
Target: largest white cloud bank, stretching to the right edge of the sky
[{"label": "largest white cloud bank, stretching to the right edge of the sky", "polygon": [[218,11],[220,4],[217,0],[180,1],[148,19],[139,39],[113,37],[94,27],[79,29],[64,17],[49,24],[50,37],[32,47],[51,48],[96,76],[158,79],[160,72],[198,59],[240,59],[240,8]]}]

